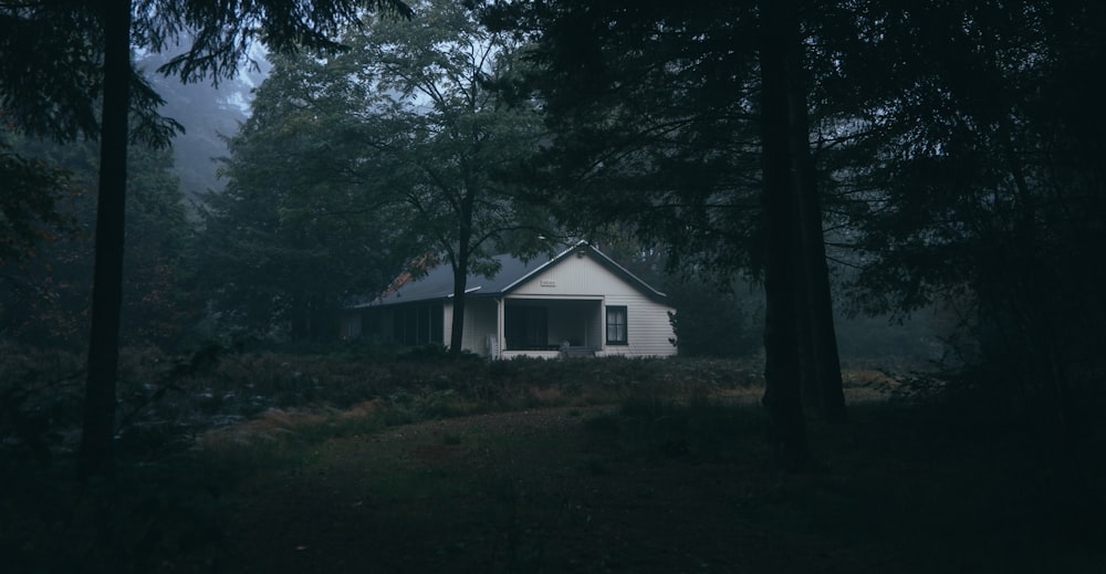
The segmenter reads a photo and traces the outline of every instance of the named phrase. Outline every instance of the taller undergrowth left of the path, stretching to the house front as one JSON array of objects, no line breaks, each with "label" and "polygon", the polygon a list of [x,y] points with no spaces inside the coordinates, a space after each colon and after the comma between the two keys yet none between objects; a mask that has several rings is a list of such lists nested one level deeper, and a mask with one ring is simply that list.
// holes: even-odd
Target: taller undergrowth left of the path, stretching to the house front
[{"label": "taller undergrowth left of the path, stretching to the house front", "polygon": [[319,445],[336,438],[477,413],[755,384],[754,368],[738,363],[129,348],[118,380],[119,473],[81,488],[72,477],[83,357],[11,343],[0,351],[0,554],[20,572],[152,572],[170,555],[202,563],[221,544],[227,484],[260,469],[309,465]]}]

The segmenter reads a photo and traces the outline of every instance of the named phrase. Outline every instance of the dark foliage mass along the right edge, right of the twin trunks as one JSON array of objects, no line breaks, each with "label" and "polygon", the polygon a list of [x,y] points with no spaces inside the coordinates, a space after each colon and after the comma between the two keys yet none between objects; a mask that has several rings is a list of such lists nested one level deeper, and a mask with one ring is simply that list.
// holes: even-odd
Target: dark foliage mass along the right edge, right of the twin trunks
[{"label": "dark foliage mass along the right edge, right of the twin trunks", "polygon": [[[1106,241],[1089,134],[1106,126],[1074,111],[1094,90],[1077,70],[1106,61],[1088,48],[1106,14],[979,1],[868,25],[887,67],[839,158],[864,261],[853,296],[877,313],[943,306],[959,315],[961,364],[998,394],[1048,404],[1064,425],[1086,419],[1078,405],[1102,405],[1106,319],[1106,274],[1088,265]],[[919,50],[926,63],[895,63]]]}]

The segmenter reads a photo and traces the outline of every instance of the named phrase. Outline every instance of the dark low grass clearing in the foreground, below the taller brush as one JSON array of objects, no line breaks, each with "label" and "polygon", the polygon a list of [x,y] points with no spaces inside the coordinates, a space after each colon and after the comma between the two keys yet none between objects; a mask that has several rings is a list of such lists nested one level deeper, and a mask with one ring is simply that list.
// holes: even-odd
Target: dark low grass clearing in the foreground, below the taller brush
[{"label": "dark low grass clearing in the foreground, below the taller brush", "polygon": [[849,422],[812,417],[818,468],[785,473],[754,378],[664,365],[273,408],[79,491],[63,463],[9,473],[0,553],[11,572],[1106,572],[1100,474],[1040,431],[849,372]]}]

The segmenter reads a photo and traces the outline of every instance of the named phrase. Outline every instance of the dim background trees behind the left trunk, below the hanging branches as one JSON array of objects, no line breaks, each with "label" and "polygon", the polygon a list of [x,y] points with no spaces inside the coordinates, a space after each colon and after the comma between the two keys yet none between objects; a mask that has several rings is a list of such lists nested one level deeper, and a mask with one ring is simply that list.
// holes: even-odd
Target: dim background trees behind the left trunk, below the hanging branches
[{"label": "dim background trees behind the left trunk, below the hanging branches", "polygon": [[[88,328],[91,230],[95,227],[93,149],[87,143],[59,145],[31,139],[23,140],[19,149],[34,161],[64,169],[71,191],[64,201],[50,206],[52,227],[40,232],[51,241],[34,248],[33,260],[3,275],[15,289],[0,294],[0,316],[6,325],[0,336],[77,348]],[[192,229],[171,169],[168,152],[132,149],[126,221],[129,249],[123,279],[125,344],[173,348],[196,316],[188,290]]]}]

